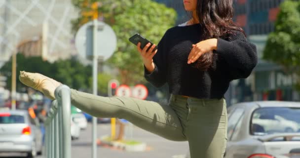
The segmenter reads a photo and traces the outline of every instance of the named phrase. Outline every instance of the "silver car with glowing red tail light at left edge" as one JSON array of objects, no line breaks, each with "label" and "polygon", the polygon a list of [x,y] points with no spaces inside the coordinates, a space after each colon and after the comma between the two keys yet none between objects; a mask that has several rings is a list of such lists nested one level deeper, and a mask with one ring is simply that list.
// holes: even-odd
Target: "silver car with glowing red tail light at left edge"
[{"label": "silver car with glowing red tail light at left edge", "polygon": [[27,153],[34,158],[42,150],[37,119],[27,111],[0,111],[0,153]]}]

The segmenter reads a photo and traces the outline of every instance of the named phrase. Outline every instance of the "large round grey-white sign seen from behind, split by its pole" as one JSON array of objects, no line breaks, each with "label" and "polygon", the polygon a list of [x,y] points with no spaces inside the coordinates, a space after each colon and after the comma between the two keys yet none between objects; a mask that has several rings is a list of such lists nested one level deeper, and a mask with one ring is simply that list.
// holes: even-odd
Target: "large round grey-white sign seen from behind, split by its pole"
[{"label": "large round grey-white sign seen from behind, split by its pole", "polygon": [[[102,21],[98,21],[97,54],[103,60],[109,59],[116,49],[117,39],[112,28]],[[81,26],[75,36],[75,46],[78,54],[88,59],[93,55],[93,21]]]}]

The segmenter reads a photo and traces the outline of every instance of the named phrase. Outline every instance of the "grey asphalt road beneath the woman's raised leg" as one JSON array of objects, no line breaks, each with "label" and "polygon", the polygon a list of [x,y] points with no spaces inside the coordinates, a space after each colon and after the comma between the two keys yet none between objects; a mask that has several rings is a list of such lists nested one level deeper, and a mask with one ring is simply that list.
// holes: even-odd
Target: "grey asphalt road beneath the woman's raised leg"
[{"label": "grey asphalt road beneath the woman's raised leg", "polygon": [[[98,137],[109,135],[110,128],[110,124],[98,124]],[[72,158],[91,158],[91,131],[92,127],[89,123],[86,130],[81,130],[79,139],[72,141]],[[188,152],[188,142],[169,141],[138,127],[133,127],[133,139],[147,143],[147,151],[125,152],[110,147],[98,146],[97,158],[183,158],[182,155]],[[4,158],[21,157],[6,156]],[[44,157],[38,156],[37,158]]]}]

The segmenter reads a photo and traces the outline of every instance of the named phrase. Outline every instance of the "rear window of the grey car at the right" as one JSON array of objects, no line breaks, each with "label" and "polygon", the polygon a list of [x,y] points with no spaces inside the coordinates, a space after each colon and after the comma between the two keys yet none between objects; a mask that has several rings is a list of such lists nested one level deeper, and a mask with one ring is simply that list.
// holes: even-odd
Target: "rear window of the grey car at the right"
[{"label": "rear window of the grey car at the right", "polygon": [[252,115],[251,133],[254,135],[296,132],[300,132],[300,108],[260,108]]}]

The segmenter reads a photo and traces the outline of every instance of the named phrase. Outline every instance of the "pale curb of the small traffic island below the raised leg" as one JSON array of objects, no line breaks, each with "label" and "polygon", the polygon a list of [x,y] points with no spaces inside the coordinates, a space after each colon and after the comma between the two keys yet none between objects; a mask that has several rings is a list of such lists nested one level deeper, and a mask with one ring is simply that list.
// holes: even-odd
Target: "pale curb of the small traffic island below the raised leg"
[{"label": "pale curb of the small traffic island below the raised leg", "polygon": [[147,149],[147,144],[143,143],[143,142],[138,143],[138,144],[129,145],[129,144],[125,144],[125,143],[117,142],[117,141],[108,141],[107,140],[108,137],[109,136],[102,136],[100,138],[100,140],[97,141],[97,144],[99,142],[99,144],[101,144],[101,145],[109,145],[114,148],[118,148],[118,149],[121,149],[121,150],[124,150],[127,152],[144,152]]}]

